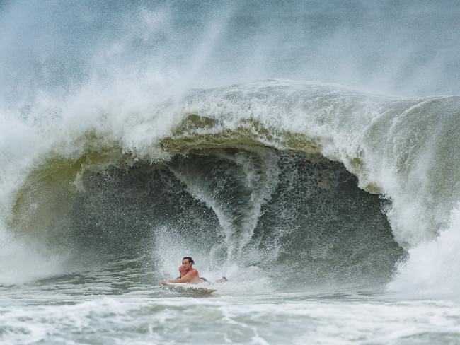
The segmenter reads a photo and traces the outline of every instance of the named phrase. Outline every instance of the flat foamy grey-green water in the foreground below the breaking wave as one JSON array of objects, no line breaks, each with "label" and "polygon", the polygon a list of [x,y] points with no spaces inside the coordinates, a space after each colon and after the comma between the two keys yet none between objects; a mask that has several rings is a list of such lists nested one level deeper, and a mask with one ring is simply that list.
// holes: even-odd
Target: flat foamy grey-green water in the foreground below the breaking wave
[{"label": "flat foamy grey-green water in the foreground below the breaking wave", "polygon": [[3,288],[4,344],[456,344],[460,332],[460,305],[447,300],[255,292],[241,283],[189,297],[105,268],[43,281],[40,294],[34,285]]}]

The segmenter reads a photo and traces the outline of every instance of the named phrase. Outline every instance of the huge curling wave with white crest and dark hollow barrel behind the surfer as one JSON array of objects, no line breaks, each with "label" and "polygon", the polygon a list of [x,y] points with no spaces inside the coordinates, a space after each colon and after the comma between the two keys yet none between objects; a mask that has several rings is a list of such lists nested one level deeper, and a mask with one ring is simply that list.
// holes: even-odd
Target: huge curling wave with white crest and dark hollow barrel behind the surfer
[{"label": "huge curling wave with white crest and dark hollow barrel behind the surfer", "polygon": [[159,101],[97,85],[3,112],[2,283],[40,277],[25,251],[65,270],[52,248],[189,251],[210,271],[232,262],[299,286],[436,290],[415,272],[458,247],[444,237],[457,238],[459,97],[268,80]]}]

